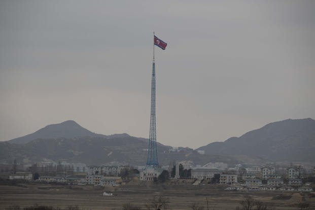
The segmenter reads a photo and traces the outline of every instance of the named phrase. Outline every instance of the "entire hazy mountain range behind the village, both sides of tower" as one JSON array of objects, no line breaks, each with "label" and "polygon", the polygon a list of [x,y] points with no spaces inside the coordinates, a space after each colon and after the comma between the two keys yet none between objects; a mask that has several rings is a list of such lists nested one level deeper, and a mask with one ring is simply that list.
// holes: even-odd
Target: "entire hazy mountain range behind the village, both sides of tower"
[{"label": "entire hazy mountain range behind the village, both sides of tower", "polygon": [[[41,161],[83,162],[87,164],[145,165],[148,139],[126,133],[93,133],[75,121],[48,125],[34,133],[0,142],[0,162],[31,163]],[[159,163],[174,160],[193,164],[221,161],[241,162],[313,161],[315,159],[315,121],[284,120],[269,123],[240,137],[215,142],[196,150],[170,151],[158,143]],[[205,155],[197,153],[204,150]]]}]

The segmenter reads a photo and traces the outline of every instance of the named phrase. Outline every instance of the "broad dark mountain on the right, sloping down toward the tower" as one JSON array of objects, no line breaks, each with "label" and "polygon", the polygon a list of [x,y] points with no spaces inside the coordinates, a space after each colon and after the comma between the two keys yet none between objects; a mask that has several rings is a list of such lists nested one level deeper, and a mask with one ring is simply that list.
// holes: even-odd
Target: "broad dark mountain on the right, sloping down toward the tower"
[{"label": "broad dark mountain on the right, sloping down toward the tower", "polygon": [[247,155],[271,161],[311,161],[315,159],[315,120],[288,119],[269,123],[240,137],[214,142],[196,150],[205,154]]}]

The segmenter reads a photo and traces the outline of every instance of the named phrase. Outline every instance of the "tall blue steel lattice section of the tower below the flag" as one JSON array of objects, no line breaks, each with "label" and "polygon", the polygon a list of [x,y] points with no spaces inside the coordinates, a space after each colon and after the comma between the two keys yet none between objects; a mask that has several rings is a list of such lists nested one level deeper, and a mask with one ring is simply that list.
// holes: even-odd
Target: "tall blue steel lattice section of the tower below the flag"
[{"label": "tall blue steel lattice section of the tower below the flag", "polygon": [[156,122],[155,122],[155,61],[153,51],[152,63],[152,82],[151,82],[151,117],[150,117],[150,136],[147,167],[158,166],[157,148],[156,148]]}]

